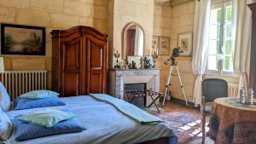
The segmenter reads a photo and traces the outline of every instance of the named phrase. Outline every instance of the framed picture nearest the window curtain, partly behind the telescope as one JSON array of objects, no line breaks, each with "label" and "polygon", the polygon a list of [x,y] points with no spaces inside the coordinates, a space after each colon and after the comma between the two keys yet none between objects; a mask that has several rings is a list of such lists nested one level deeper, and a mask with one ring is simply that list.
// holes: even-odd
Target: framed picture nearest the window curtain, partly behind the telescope
[{"label": "framed picture nearest the window curtain, partly behind the telescope", "polygon": [[193,44],[192,32],[181,33],[177,35],[177,47],[183,51],[181,56],[191,56],[192,44]]}]

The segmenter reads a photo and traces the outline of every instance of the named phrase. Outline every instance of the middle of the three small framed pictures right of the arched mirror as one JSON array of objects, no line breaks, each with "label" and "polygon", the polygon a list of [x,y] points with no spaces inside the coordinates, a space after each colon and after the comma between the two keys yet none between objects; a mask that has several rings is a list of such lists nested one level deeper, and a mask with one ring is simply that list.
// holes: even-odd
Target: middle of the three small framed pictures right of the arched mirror
[{"label": "middle of the three small framed pictures right of the arched mirror", "polygon": [[159,40],[159,55],[169,55],[170,51],[170,37],[160,37]]}]

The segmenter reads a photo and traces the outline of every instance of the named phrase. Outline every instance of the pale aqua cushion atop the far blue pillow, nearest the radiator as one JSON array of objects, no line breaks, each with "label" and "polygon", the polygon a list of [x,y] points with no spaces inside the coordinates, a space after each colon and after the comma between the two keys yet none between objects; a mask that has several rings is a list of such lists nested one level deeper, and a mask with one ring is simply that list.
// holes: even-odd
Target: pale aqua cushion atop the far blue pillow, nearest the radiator
[{"label": "pale aqua cushion atop the far blue pillow, nearest the radiator", "polygon": [[52,96],[58,96],[60,94],[50,90],[33,90],[25,94],[20,95],[20,98],[26,99],[44,99]]}]

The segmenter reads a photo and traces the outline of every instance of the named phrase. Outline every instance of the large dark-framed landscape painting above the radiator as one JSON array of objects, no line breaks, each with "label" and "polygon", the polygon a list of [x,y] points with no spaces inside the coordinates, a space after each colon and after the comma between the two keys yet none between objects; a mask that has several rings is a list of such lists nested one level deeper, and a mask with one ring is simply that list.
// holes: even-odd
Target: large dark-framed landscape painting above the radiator
[{"label": "large dark-framed landscape painting above the radiator", "polygon": [[45,27],[1,24],[2,55],[45,55]]}]

